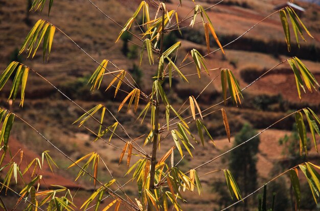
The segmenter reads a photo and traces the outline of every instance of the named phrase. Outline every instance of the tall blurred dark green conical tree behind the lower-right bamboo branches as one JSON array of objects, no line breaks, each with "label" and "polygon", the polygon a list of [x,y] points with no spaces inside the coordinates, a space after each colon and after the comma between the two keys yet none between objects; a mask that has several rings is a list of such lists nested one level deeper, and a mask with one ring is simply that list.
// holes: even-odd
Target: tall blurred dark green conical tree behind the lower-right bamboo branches
[{"label": "tall blurred dark green conical tree behind the lower-right bamboo branches", "polygon": [[[234,146],[257,135],[257,131],[249,124],[244,124],[239,133],[235,136]],[[249,143],[240,146],[230,153],[229,168],[237,180],[243,196],[248,195],[257,188],[257,153],[259,148],[259,137],[253,138]],[[244,202],[244,209],[247,210],[247,203]]]}]

